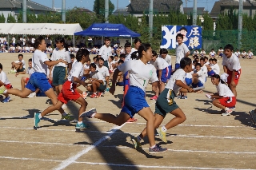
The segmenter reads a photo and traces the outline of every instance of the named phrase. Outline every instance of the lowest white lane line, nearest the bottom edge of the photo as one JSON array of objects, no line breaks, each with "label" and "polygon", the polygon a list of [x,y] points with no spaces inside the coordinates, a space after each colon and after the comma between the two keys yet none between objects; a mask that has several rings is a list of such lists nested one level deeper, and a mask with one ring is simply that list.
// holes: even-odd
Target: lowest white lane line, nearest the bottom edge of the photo
[{"label": "lowest white lane line, nearest the bottom edge of the photo", "polygon": [[[62,162],[62,160],[44,160],[37,158],[25,158],[25,157],[13,157],[13,156],[0,156],[0,159],[9,159],[9,160],[37,160],[37,161],[46,161],[46,162]],[[75,164],[93,164],[93,165],[106,165],[106,166],[115,166],[115,167],[134,167],[134,168],[167,168],[167,169],[202,169],[202,170],[248,170],[248,169],[237,169],[237,168],[207,168],[207,167],[178,167],[178,166],[150,166],[142,164],[111,164],[111,163],[102,163],[102,162],[82,162],[74,161]],[[256,170],[251,169],[250,170]]]}]

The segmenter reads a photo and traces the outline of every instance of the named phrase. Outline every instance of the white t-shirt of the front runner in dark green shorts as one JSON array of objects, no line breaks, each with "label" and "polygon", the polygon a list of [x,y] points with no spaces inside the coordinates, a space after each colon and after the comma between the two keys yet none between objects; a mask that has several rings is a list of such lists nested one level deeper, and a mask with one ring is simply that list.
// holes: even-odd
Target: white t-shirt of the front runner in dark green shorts
[{"label": "white t-shirt of the front runner in dark green shorts", "polygon": [[186,72],[183,69],[177,69],[174,74],[170,77],[170,80],[168,81],[166,85],[166,89],[172,89],[174,93],[178,93],[178,90],[181,88],[178,85],[176,85],[176,81],[182,81],[185,82],[186,78]]}]

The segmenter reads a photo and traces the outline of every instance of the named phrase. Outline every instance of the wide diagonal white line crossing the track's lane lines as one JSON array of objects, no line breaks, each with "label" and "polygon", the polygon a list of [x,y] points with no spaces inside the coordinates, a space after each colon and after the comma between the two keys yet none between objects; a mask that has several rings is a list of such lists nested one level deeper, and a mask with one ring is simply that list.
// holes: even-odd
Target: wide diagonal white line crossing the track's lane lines
[{"label": "wide diagonal white line crossing the track's lane lines", "polygon": [[106,136],[103,136],[101,139],[99,139],[97,142],[92,144],[90,147],[82,149],[82,151],[78,152],[76,155],[70,156],[68,159],[63,160],[62,163],[58,165],[58,167],[54,168],[54,170],[64,169],[67,166],[69,166],[70,164],[74,163],[74,161],[77,160],[80,156],[86,154],[87,152],[89,152],[93,148],[97,147],[98,144],[101,144],[103,141],[107,140],[110,136],[112,136],[118,129],[122,128],[122,126],[124,126],[124,125],[126,125],[126,124],[123,124],[121,126],[116,126],[115,125],[114,128],[111,129],[110,134],[108,134]]}]

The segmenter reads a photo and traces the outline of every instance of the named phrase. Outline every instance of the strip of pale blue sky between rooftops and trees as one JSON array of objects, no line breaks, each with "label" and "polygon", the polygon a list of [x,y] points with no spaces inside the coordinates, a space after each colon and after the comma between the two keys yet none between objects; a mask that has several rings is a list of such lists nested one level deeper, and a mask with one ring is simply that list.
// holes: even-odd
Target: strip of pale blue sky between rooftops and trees
[{"label": "strip of pale blue sky between rooftops and trees", "polygon": [[[44,6],[52,7],[52,0],[31,0],[34,2],[38,2]],[[112,3],[114,3],[115,8],[117,8],[117,2],[118,2],[118,8],[126,8],[126,6],[129,5],[129,0],[110,0]],[[150,2],[150,0],[148,0]],[[157,1],[157,0],[154,0]],[[185,0],[182,0],[185,5]],[[198,0],[198,7],[205,7],[206,10],[211,10],[214,6],[214,2],[218,0]],[[66,8],[74,8],[74,6],[78,7],[84,7],[88,10],[93,10],[94,8],[94,0],[66,0]],[[193,0],[187,0],[187,7],[193,6]],[[54,0],[54,7],[61,8],[62,7],[62,0]]]}]

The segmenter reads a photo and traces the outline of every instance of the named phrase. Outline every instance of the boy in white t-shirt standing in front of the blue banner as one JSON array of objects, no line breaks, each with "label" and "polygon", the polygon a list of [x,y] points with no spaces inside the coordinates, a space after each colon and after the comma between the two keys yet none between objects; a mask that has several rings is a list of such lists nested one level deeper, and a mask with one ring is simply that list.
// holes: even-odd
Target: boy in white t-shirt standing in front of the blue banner
[{"label": "boy in white t-shirt standing in front of the blue banner", "polygon": [[183,57],[188,57],[190,55],[190,50],[187,48],[186,44],[183,43],[183,35],[177,34],[176,40],[178,42],[178,46],[175,49],[176,53],[176,61],[175,61],[175,70],[180,69],[180,61]]}]

